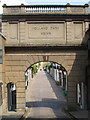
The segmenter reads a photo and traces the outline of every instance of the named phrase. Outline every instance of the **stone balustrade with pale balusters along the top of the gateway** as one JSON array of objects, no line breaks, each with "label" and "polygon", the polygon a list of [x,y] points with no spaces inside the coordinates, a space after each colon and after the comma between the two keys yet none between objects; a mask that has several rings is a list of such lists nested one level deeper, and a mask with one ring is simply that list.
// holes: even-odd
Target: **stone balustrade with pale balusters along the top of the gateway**
[{"label": "stone balustrade with pale balusters along the top of the gateway", "polygon": [[3,14],[88,14],[88,5],[3,5]]}]

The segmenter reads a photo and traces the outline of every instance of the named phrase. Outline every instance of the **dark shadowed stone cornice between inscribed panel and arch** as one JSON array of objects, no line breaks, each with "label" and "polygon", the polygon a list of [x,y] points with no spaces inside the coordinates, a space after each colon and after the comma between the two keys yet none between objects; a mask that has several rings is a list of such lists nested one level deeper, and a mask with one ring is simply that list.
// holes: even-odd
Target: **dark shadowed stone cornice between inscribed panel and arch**
[{"label": "dark shadowed stone cornice between inscribed panel and arch", "polygon": [[29,51],[65,51],[65,50],[88,50],[87,46],[5,46],[6,53],[17,52],[29,52]]}]

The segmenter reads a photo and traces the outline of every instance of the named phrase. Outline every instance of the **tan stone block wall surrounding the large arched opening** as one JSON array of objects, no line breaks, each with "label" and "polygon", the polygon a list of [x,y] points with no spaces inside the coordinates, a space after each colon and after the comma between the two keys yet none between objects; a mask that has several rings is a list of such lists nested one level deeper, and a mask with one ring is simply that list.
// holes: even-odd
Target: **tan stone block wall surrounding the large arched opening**
[{"label": "tan stone block wall surrounding the large arched opening", "polygon": [[[67,102],[70,108],[76,108],[76,83],[85,80],[87,52],[71,51],[31,51],[21,53],[6,52],[5,56],[5,81],[16,83],[17,87],[17,110],[25,109],[25,71],[26,69],[40,61],[54,61],[62,64],[68,74],[68,97]],[[23,99],[22,99],[23,98]],[[6,105],[7,106],[7,105]]]}]

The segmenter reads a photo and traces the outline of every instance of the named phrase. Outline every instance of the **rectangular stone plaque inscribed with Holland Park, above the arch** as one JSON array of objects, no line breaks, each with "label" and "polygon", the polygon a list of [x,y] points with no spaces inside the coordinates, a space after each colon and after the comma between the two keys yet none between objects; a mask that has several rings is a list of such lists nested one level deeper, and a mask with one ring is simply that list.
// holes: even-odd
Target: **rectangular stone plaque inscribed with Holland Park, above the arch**
[{"label": "rectangular stone plaque inscribed with Holland Park, above the arch", "polygon": [[64,23],[28,24],[29,39],[64,39]]}]

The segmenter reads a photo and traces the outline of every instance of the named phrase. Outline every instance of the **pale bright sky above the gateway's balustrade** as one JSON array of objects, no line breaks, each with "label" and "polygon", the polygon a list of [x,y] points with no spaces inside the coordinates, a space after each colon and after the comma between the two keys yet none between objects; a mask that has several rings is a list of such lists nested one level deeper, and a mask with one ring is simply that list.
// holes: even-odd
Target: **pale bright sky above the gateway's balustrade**
[{"label": "pale bright sky above the gateway's balustrade", "polygon": [[47,5],[47,4],[53,4],[53,5],[65,5],[67,3],[70,4],[79,4],[79,5],[84,5],[88,3],[90,0],[0,0],[0,13],[3,12],[2,10],[2,5],[7,4],[7,5],[21,5],[22,3],[25,5]]}]

